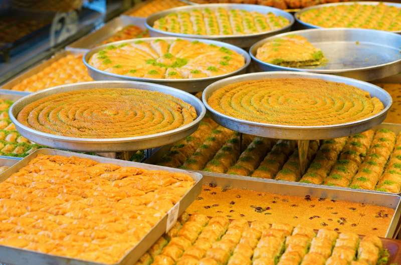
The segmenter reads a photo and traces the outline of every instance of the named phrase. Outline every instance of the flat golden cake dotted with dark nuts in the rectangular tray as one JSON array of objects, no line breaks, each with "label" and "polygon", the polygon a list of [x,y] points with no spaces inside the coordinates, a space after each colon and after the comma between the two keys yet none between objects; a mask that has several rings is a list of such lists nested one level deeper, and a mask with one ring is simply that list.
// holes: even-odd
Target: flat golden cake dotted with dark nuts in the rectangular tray
[{"label": "flat golden cake dotted with dark nuts in the rectangular tray", "polygon": [[[296,188],[296,187],[292,187]],[[311,195],[282,195],[251,189],[204,185],[186,209],[190,214],[234,220],[287,222],[293,226],[386,236],[394,208]]]}]

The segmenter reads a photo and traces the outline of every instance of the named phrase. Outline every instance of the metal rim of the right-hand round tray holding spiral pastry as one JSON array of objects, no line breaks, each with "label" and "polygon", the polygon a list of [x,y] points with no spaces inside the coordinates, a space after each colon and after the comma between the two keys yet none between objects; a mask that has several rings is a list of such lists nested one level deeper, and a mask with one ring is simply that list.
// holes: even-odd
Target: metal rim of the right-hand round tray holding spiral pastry
[{"label": "metal rim of the right-hand round tray holding spiral pastry", "polygon": [[[316,79],[316,78],[317,78],[317,79],[321,79],[321,78],[319,78],[319,77],[323,77],[323,78],[326,77],[326,78],[329,78],[329,79],[327,79],[328,81],[332,81],[332,82],[351,81],[351,82],[353,82],[353,83],[360,83],[360,84],[365,84],[365,85],[367,84],[367,85],[369,85],[369,86],[374,87],[375,89],[383,90],[383,92],[384,92],[384,94],[386,95],[386,97],[387,97],[387,99],[389,100],[389,102],[388,102],[387,105],[384,105],[384,104],[383,104],[383,105],[384,105],[384,108],[383,108],[380,112],[378,112],[378,113],[376,113],[376,114],[374,114],[374,115],[372,115],[372,116],[370,116],[370,117],[364,118],[364,119],[360,119],[360,120],[356,120],[356,121],[351,121],[351,122],[346,122],[346,123],[332,124],[332,125],[296,126],[296,125],[279,125],[279,124],[261,123],[261,122],[255,122],[255,121],[249,121],[249,120],[234,118],[234,117],[232,117],[232,116],[223,114],[223,113],[221,113],[221,112],[215,110],[214,108],[212,108],[212,107],[209,105],[209,103],[208,103],[208,99],[209,99],[210,96],[209,96],[208,98],[206,98],[206,96],[207,96],[206,94],[207,94],[207,93],[213,93],[216,89],[218,89],[218,88],[215,88],[215,86],[219,86],[219,84],[221,84],[221,83],[223,83],[223,82],[227,82],[227,81],[232,81],[232,82],[240,81],[240,80],[237,80],[237,79],[239,79],[239,78],[241,78],[241,77],[245,77],[246,79],[244,79],[244,80],[257,80],[257,79],[266,78],[266,76],[267,76],[267,78],[269,78],[270,75],[273,75],[273,76],[274,76],[274,75],[280,75],[280,74],[289,74],[290,76],[293,75],[293,76],[295,76],[295,77],[306,77],[306,78],[308,78],[308,77],[312,77],[312,78],[315,77],[315,78],[313,78],[313,79]],[[298,76],[297,76],[297,75],[298,75]],[[259,77],[259,76],[261,76],[261,78],[252,79],[252,77]],[[265,76],[265,77],[263,77],[263,76]],[[247,78],[247,77],[251,77],[251,78]],[[274,78],[274,77],[272,77],[272,78]],[[288,78],[288,77],[280,77],[280,78]],[[244,80],[243,80],[243,81],[244,81]],[[325,79],[325,80],[326,80],[326,79]],[[355,85],[353,85],[353,86],[355,86]],[[361,89],[361,88],[360,88],[360,89]],[[212,91],[211,91],[211,90],[212,90]],[[362,89],[362,90],[364,90],[364,89]],[[216,81],[216,82],[212,83],[211,85],[209,85],[208,87],[206,87],[205,90],[204,90],[204,92],[203,92],[203,94],[202,94],[202,101],[204,102],[206,108],[207,108],[210,112],[212,112],[213,114],[215,114],[215,115],[217,115],[217,116],[220,116],[221,118],[224,118],[224,119],[226,119],[226,120],[228,120],[228,121],[230,121],[230,122],[233,122],[233,121],[234,121],[234,122],[239,122],[239,123],[247,124],[247,125],[251,125],[251,126],[259,126],[259,127],[263,127],[263,128],[287,129],[287,130],[295,130],[295,129],[300,129],[300,130],[310,130],[310,129],[313,129],[313,130],[324,130],[324,129],[330,129],[330,128],[333,128],[333,129],[334,129],[334,128],[341,128],[341,127],[349,126],[349,125],[363,124],[363,122],[365,122],[365,121],[373,120],[374,118],[379,118],[379,117],[381,117],[381,116],[383,116],[383,115],[386,115],[386,112],[389,110],[389,108],[391,107],[391,104],[392,104],[391,95],[390,95],[387,91],[385,91],[384,89],[382,89],[382,88],[380,88],[379,86],[374,85],[374,84],[372,84],[372,83],[368,83],[368,82],[365,82],[365,81],[360,81],[360,80],[353,79],[353,78],[349,78],[349,77],[343,77],[343,76],[337,76],[337,75],[330,75],[330,74],[300,72],[300,71],[267,71],[267,72],[254,72],[254,73],[246,73],[246,74],[236,75],[236,76],[233,76],[233,77],[228,77],[228,78],[225,78],[225,79]],[[380,101],[381,101],[381,100],[380,100]],[[268,136],[267,136],[267,137],[268,137]]]}]

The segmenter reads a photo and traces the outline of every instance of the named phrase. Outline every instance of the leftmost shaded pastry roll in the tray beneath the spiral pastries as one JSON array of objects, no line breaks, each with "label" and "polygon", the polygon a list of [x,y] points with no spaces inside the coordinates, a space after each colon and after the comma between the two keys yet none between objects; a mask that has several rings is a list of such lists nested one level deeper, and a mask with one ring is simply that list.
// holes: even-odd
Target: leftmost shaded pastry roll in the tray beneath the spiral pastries
[{"label": "leftmost shaded pastry roll in the tray beneath the spiral pastries", "polygon": [[158,165],[178,167],[206,140],[218,124],[209,117],[200,121],[199,127],[191,135],[175,143],[164,154]]}]

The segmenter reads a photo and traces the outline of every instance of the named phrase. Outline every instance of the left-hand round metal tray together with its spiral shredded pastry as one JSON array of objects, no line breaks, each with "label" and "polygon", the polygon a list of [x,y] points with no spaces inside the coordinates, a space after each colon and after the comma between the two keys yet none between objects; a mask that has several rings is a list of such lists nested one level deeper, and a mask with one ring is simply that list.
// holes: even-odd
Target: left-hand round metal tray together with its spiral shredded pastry
[{"label": "left-hand round metal tray together with its spiral shredded pastry", "polygon": [[191,134],[206,109],[168,86],[128,81],[67,84],[25,96],[10,117],[25,137],[55,148],[127,151]]}]

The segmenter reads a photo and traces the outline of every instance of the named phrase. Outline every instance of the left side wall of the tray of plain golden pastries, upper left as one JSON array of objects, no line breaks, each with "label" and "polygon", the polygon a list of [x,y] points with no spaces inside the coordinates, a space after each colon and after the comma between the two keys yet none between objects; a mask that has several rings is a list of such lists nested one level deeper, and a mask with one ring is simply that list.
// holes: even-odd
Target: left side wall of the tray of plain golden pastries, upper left
[{"label": "left side wall of the tray of plain golden pastries, upper left", "polygon": [[[3,83],[0,86],[0,89],[11,89],[13,86],[16,84],[22,82],[24,79],[42,71],[45,67],[49,66],[53,62],[57,61],[58,59],[67,56],[68,54],[82,54],[83,52],[81,51],[76,51],[76,50],[60,50],[59,52],[56,52],[52,57],[49,59],[43,60],[39,63],[37,63],[35,66],[28,68],[26,71],[18,74],[16,77],[8,80],[7,82]],[[31,93],[31,92],[26,92],[26,93]]]}]

